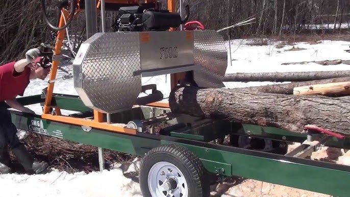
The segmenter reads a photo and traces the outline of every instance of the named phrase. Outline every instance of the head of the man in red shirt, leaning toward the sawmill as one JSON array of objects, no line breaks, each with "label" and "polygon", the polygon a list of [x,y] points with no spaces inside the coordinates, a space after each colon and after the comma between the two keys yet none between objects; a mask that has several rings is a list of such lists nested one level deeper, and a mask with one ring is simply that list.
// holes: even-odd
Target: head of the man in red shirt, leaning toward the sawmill
[{"label": "head of the man in red shirt, leaning toward the sawmill", "polygon": [[31,63],[31,79],[44,80],[51,71],[51,60],[47,57],[37,57]]}]

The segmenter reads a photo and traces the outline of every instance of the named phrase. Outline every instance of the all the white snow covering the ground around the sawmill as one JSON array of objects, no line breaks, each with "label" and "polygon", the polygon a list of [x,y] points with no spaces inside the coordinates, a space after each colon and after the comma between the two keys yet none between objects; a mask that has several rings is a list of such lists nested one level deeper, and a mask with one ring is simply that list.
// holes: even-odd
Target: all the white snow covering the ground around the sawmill
[{"label": "all the white snow covering the ground around the sawmill", "polygon": [[[300,51],[288,51],[292,46],[286,45],[278,48],[279,43],[271,43],[264,46],[251,46],[244,44],[245,40],[232,40],[231,62],[228,62],[227,73],[233,72],[283,72],[283,71],[327,71],[347,70],[350,65],[339,64],[323,66],[315,63],[281,65],[287,62],[321,61],[321,60],[348,60],[350,53],[344,52],[349,49],[350,41],[322,41],[319,44],[296,43],[295,47],[304,48]],[[230,58],[230,57],[229,57]],[[72,68],[67,67],[68,71]],[[59,71],[59,76],[63,72]],[[24,93],[25,96],[38,94],[47,85],[46,81],[32,80]],[[157,76],[143,78],[143,84],[156,83],[158,89],[167,97],[170,91],[170,76]],[[227,88],[246,87],[271,84],[268,82],[251,83],[225,83]],[[64,94],[77,94],[73,88],[72,80],[56,82],[54,91]],[[41,114],[39,105],[29,106],[36,113]],[[133,166],[131,166],[133,168]],[[132,170],[132,169],[131,169]],[[242,187],[242,186],[240,186]],[[261,186],[262,187],[262,186]],[[276,186],[277,187],[277,186]],[[282,187],[282,186],[281,186]],[[221,196],[244,196],[238,194],[238,186],[228,190]],[[273,187],[276,189],[275,187]],[[259,186],[260,190],[260,186]],[[283,191],[283,189],[280,188]],[[290,189],[292,192],[292,190]],[[67,174],[53,169],[45,175],[0,175],[0,192],[2,196],[141,196],[139,184],[122,176],[121,168],[116,167],[103,173],[90,174],[76,173]],[[262,190],[259,191],[260,193]],[[300,195],[312,195],[306,191],[298,190]],[[259,195],[260,195],[259,193]],[[252,196],[253,194],[249,195]],[[258,194],[257,194],[258,195]],[[273,196],[273,195],[272,195]],[[291,195],[289,195],[291,196]],[[316,196],[316,195],[315,195]]]}]

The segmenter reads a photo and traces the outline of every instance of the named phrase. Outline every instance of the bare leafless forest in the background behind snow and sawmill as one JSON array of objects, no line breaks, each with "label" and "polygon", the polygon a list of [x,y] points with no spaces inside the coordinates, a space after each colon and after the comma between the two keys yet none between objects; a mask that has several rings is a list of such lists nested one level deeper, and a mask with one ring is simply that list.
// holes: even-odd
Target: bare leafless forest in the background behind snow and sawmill
[{"label": "bare leafless forest in the background behind snow and sawmill", "polygon": [[[57,0],[45,0],[46,13],[53,24],[58,21]],[[166,0],[160,0],[166,8]],[[221,31],[224,39],[255,38],[250,44],[264,45],[269,40],[288,43],[317,40],[349,40],[350,1],[347,0],[184,0],[190,5],[190,20],[207,29],[219,30],[240,21],[244,26]],[[0,64],[23,57],[40,43],[54,44],[53,32],[43,19],[39,0],[0,0]],[[179,7],[179,4],[178,4]],[[117,12],[108,12],[107,31],[113,31]],[[101,28],[98,11],[98,25]],[[70,24],[72,50],[77,52],[86,40],[85,12]],[[99,30],[101,31],[101,29]]]}]

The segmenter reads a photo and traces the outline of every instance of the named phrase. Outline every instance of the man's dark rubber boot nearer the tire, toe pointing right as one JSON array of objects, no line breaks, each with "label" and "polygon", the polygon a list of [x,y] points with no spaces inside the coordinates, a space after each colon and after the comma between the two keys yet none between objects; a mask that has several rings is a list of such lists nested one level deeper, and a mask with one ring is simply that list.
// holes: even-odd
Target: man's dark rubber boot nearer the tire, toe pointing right
[{"label": "man's dark rubber boot nearer the tire, toe pointing right", "polygon": [[19,163],[24,167],[28,174],[39,174],[45,170],[48,164],[44,161],[37,162],[26,149],[26,146],[20,144],[12,149],[13,154],[18,159]]}]

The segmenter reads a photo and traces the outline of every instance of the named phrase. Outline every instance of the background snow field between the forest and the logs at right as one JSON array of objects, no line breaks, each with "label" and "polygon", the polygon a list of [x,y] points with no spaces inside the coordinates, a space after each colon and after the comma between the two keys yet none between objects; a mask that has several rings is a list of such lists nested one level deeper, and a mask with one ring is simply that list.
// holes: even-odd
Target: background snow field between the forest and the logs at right
[{"label": "background snow field between the forest and the logs at right", "polygon": [[[303,61],[323,61],[323,60],[349,60],[350,54],[344,50],[349,49],[346,41],[324,40],[319,44],[309,44],[305,42],[296,43],[295,48],[301,50],[290,51],[293,46],[285,45],[278,47],[281,42],[275,42],[263,46],[250,46],[244,44],[246,40],[231,41],[232,66],[229,63],[226,73],[235,72],[292,72],[292,71],[334,71],[347,70],[349,65],[338,64],[323,66],[316,63],[290,64],[282,63],[303,62]],[[228,88],[258,86],[267,84],[277,84],[271,82],[224,82]]]}]

